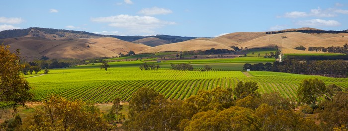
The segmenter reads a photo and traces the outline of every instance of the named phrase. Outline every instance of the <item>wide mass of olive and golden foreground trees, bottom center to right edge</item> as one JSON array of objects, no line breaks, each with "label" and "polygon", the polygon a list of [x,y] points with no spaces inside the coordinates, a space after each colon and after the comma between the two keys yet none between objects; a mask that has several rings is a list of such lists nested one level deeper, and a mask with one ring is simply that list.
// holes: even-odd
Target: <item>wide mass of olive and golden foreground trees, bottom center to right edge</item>
[{"label": "wide mass of olive and golden foreground trees, bottom center to right edge", "polygon": [[[304,89],[309,86],[308,82],[302,83]],[[257,89],[255,82],[239,82],[234,89],[217,87],[210,91],[199,90],[197,95],[185,100],[167,100],[151,88],[140,88],[129,103],[129,119],[123,128],[126,131],[328,131],[348,128],[348,93],[335,90],[338,88],[325,88],[333,95],[328,93],[330,91],[325,95],[317,94],[316,99],[319,96],[332,98],[316,110],[320,125],[303,113],[305,109],[313,111],[310,106],[303,106],[306,107],[301,108],[303,112],[295,112],[295,102],[278,93],[259,94]],[[303,102],[308,95],[315,96],[306,90],[302,95]],[[344,105],[339,105],[340,102]]]}]

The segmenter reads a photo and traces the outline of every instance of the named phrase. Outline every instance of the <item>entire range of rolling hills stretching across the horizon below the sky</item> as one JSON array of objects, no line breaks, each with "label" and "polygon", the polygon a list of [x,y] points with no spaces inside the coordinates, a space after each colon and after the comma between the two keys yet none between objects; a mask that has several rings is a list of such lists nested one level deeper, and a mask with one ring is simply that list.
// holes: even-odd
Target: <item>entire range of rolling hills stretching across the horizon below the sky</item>
[{"label": "entire range of rolling hills stretching across the horizon below the sky", "polygon": [[235,32],[216,38],[169,35],[108,37],[84,31],[34,27],[1,31],[0,38],[5,38],[1,39],[0,43],[10,45],[13,51],[21,49],[21,57],[32,60],[41,56],[77,59],[115,57],[127,54],[130,50],[135,53],[182,52],[211,48],[233,50],[231,46],[244,49],[278,46],[284,53],[303,54],[308,51],[293,49],[301,45],[307,48],[343,46],[348,43],[348,32],[306,27],[271,32]]}]

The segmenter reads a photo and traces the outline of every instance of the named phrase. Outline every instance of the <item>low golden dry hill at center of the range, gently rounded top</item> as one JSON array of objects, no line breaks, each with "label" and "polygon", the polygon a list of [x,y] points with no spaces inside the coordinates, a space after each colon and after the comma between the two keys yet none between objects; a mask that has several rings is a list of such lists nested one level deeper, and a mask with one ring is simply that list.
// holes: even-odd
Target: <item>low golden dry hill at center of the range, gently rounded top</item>
[{"label": "low golden dry hill at center of the range, gently rounded top", "polygon": [[184,42],[156,46],[156,47],[141,51],[140,53],[155,53],[155,52],[168,52],[168,51],[178,51],[178,52],[197,51],[197,50],[208,50],[211,48],[232,50],[232,48],[217,42],[206,41],[206,40],[189,40]]}]

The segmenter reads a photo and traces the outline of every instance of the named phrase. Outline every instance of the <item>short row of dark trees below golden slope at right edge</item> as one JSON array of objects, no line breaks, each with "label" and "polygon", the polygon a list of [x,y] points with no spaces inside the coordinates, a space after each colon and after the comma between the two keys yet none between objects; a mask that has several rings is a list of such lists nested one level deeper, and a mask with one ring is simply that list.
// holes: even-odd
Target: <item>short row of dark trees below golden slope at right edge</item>
[{"label": "short row of dark trees below golden slope at right edge", "polygon": [[343,45],[343,47],[337,46],[331,46],[331,47],[308,47],[308,51],[315,51],[315,52],[329,52],[329,53],[341,53],[341,54],[347,54],[348,53],[348,44],[346,43]]}]

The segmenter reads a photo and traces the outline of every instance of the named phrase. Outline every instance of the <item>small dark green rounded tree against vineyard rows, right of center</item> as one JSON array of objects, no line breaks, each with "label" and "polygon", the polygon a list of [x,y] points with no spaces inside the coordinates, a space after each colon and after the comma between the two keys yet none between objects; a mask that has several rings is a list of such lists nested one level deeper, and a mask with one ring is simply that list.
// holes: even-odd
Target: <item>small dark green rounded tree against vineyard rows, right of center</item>
[{"label": "small dark green rounded tree against vineyard rows, right of center", "polygon": [[243,99],[244,97],[248,96],[249,94],[253,95],[260,95],[256,92],[256,90],[259,88],[258,84],[256,82],[248,81],[238,82],[236,88],[233,90],[233,94],[235,97]]}]

